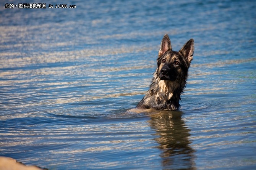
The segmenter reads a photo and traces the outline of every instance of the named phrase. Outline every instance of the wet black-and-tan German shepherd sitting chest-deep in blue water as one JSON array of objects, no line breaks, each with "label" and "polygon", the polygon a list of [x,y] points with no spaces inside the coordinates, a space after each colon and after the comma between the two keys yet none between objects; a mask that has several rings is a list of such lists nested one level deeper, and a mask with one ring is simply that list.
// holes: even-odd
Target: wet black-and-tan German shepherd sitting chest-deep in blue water
[{"label": "wet black-and-tan German shepherd sitting chest-deep in blue water", "polygon": [[160,45],[152,84],[136,107],[156,110],[179,109],[180,95],[186,87],[193,54],[193,39],[186,42],[180,51],[172,51],[170,38],[165,34]]}]

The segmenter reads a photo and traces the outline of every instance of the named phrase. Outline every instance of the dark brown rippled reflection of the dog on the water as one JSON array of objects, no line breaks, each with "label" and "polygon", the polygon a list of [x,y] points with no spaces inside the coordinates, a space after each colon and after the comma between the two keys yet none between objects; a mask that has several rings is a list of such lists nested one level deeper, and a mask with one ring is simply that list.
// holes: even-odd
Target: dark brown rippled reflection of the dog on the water
[{"label": "dark brown rippled reflection of the dog on the water", "polygon": [[160,156],[164,169],[195,169],[190,129],[185,126],[182,114],[181,111],[159,111],[150,116],[150,126],[159,136],[155,140],[162,151]]}]

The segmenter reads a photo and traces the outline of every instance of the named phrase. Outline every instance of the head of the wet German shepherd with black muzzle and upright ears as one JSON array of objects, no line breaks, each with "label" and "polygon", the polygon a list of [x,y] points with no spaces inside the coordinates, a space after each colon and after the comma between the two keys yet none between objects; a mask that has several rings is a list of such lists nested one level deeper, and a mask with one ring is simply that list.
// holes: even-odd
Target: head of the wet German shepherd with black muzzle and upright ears
[{"label": "head of the wet German shepherd with black muzzle and upright ears", "polygon": [[172,51],[170,38],[165,34],[157,58],[157,74],[160,80],[175,81],[186,79],[193,53],[193,39],[188,40],[180,51]]}]

